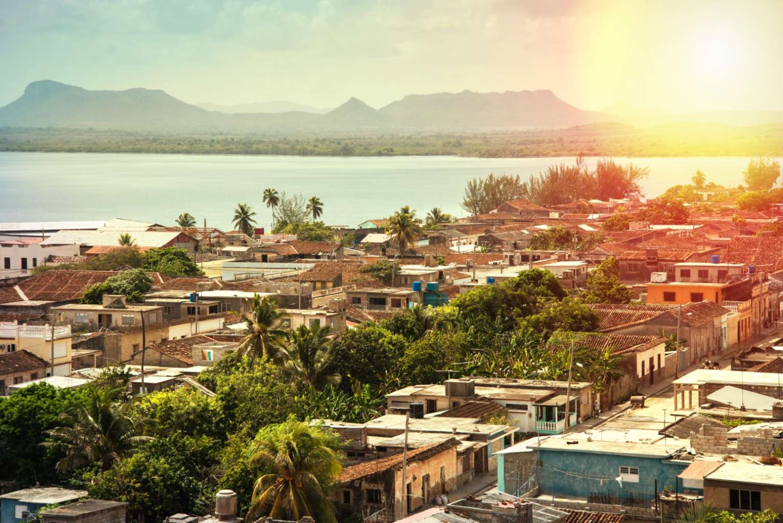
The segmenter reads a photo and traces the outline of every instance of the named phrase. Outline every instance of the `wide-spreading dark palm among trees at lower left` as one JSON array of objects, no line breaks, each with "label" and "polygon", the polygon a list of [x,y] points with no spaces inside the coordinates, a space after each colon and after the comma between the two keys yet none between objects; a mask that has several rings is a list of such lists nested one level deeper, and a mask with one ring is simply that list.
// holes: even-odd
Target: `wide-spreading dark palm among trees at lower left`
[{"label": "wide-spreading dark palm among trees at lower left", "polygon": [[65,453],[57,471],[68,471],[98,463],[108,470],[142,442],[148,420],[132,417],[132,402],[120,402],[121,388],[89,386],[85,398],[61,413],[60,426],[48,431],[50,441],[43,443]]}]

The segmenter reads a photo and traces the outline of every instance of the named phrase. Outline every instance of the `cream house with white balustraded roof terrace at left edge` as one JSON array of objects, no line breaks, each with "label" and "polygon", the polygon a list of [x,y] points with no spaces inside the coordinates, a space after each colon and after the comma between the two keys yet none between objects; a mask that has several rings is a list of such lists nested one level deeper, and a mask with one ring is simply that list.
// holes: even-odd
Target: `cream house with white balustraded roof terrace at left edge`
[{"label": "cream house with white balustraded roof terrace at left edge", "polygon": [[[53,337],[53,340],[52,340]],[[71,333],[69,326],[0,323],[0,354],[27,351],[48,362],[49,376],[67,376],[71,371]]]}]

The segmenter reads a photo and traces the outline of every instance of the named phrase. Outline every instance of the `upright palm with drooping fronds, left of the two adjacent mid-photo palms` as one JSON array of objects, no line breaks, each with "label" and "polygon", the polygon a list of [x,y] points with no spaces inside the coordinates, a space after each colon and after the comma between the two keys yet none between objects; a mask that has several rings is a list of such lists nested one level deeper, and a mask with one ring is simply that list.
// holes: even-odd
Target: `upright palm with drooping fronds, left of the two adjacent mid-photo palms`
[{"label": "upright palm with drooping fronds, left of the two adjacent mid-photo palms", "polygon": [[236,358],[241,355],[247,355],[251,361],[256,358],[274,358],[286,334],[285,330],[280,329],[282,316],[283,312],[280,311],[275,298],[261,298],[254,294],[251,317],[245,319],[250,334],[240,341]]}]

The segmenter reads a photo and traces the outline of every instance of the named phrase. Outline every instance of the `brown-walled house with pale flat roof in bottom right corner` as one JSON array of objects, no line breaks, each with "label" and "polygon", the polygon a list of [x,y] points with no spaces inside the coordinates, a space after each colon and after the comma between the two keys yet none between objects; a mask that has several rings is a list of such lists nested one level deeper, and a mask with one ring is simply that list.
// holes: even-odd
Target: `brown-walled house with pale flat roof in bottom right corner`
[{"label": "brown-walled house with pale flat roof in bottom right corner", "polygon": [[704,499],[734,513],[772,509],[783,513],[783,467],[720,463],[704,475]]}]

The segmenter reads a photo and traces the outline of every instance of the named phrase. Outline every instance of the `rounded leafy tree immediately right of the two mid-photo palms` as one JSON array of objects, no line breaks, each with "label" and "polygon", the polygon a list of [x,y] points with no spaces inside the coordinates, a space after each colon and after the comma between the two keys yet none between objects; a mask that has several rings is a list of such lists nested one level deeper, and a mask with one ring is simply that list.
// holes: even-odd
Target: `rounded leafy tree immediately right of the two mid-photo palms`
[{"label": "rounded leafy tree immediately right of the two mid-photo palms", "polygon": [[343,330],[334,345],[334,368],[341,387],[351,391],[357,384],[377,390],[398,365],[405,351],[405,338],[391,334],[377,323],[363,323]]}]

